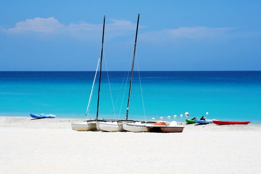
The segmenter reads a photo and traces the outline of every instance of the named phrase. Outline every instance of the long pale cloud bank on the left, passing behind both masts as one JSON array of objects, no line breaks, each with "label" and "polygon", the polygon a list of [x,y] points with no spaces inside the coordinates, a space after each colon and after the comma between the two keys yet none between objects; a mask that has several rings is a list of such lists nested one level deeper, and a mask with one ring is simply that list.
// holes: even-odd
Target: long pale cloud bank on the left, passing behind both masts
[{"label": "long pale cloud bank on the left, passing behind both masts", "polygon": [[[145,26],[140,26],[144,28]],[[106,39],[111,39],[119,36],[127,36],[133,34],[136,29],[136,24],[128,20],[109,20],[105,24]],[[2,32],[7,34],[22,34],[22,33],[38,33],[39,36],[44,34],[44,38],[48,38],[47,35],[51,34],[51,38],[54,35],[66,35],[80,40],[92,40],[100,36],[102,31],[102,22],[100,24],[90,24],[86,22],[82,23],[70,23],[68,25],[62,24],[58,19],[54,17],[34,19],[26,19],[24,21],[17,22],[15,27],[2,29]]]}]

